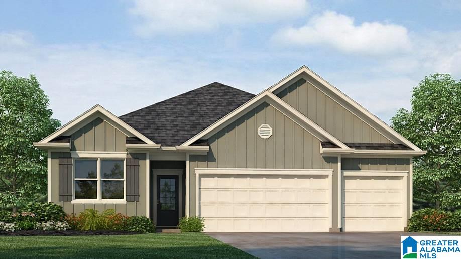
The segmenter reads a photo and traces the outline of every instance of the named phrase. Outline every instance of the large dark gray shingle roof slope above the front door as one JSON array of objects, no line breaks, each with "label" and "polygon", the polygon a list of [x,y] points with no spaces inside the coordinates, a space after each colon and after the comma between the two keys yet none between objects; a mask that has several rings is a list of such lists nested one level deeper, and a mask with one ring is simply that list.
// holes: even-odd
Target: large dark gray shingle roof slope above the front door
[{"label": "large dark gray shingle roof slope above the front door", "polygon": [[120,116],[162,146],[181,145],[255,95],[214,82]]}]

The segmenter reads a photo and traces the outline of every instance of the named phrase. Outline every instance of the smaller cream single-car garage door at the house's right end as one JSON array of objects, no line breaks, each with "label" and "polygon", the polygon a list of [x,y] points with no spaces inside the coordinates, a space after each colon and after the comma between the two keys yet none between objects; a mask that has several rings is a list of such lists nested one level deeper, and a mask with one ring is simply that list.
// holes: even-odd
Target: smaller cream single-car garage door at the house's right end
[{"label": "smaller cream single-car garage door at the house's right end", "polygon": [[[344,231],[403,231],[406,215],[406,173],[351,175],[343,178]],[[365,176],[363,174],[376,174]],[[386,174],[386,173],[384,173]]]}]

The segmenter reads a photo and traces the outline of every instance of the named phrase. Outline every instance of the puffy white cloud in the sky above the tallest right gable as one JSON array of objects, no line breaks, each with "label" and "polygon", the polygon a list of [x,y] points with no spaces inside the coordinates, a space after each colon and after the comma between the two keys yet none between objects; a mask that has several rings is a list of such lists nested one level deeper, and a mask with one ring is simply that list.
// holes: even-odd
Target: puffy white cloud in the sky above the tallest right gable
[{"label": "puffy white cloud in the sky above the tallest right gable", "polygon": [[299,28],[276,32],[273,40],[299,46],[328,46],[346,53],[388,55],[411,48],[405,27],[380,22],[354,24],[354,18],[325,11]]}]

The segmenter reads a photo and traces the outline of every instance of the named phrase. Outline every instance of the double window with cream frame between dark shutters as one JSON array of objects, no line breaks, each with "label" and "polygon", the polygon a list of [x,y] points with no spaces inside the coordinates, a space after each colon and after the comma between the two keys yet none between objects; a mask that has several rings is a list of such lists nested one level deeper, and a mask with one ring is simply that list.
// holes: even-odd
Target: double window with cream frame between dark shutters
[{"label": "double window with cream frame between dark shutters", "polygon": [[125,159],[74,159],[75,201],[125,201]]}]

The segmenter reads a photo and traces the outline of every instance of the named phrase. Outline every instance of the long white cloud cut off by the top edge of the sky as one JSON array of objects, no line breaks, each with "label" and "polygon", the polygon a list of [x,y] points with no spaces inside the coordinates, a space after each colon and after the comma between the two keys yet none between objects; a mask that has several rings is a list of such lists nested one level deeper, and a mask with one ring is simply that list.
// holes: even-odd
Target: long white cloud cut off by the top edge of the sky
[{"label": "long white cloud cut off by the top edge of the sky", "polygon": [[178,34],[210,31],[222,25],[274,22],[305,15],[307,0],[134,0],[129,12],[141,19],[136,32]]}]

